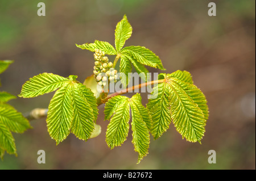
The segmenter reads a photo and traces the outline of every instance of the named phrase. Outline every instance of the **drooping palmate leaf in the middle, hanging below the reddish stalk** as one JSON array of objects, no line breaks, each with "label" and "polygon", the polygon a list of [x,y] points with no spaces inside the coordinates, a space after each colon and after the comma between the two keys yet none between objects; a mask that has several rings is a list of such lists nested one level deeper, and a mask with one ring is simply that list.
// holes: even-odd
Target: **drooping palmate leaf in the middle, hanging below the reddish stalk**
[{"label": "drooping palmate leaf in the middle, hanging below the reddish stalk", "polygon": [[151,120],[147,109],[142,106],[141,95],[136,94],[132,98],[126,96],[114,96],[105,106],[105,120],[110,120],[106,131],[106,142],[111,149],[121,146],[129,132],[131,108],[131,130],[133,131],[134,150],[139,153],[138,163],[148,154],[150,144],[149,129]]}]

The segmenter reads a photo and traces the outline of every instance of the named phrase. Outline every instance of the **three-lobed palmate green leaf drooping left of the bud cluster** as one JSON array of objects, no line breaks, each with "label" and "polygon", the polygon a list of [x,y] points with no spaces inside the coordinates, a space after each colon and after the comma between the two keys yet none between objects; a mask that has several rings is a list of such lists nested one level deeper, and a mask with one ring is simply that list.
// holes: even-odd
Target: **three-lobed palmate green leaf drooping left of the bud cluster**
[{"label": "three-lobed palmate green leaf drooping left of the bud cluster", "polygon": [[70,132],[81,140],[88,140],[94,130],[98,115],[96,98],[76,78],[76,75],[64,78],[51,73],[39,74],[23,85],[19,95],[35,97],[58,89],[49,103],[46,120],[49,135],[56,144],[65,140]]}]

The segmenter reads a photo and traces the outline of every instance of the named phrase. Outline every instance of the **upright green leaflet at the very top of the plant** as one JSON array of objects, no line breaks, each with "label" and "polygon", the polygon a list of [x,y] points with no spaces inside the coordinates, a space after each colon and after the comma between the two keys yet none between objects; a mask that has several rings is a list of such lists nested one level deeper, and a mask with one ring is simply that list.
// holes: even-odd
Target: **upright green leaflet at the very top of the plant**
[{"label": "upright green leaflet at the very top of the plant", "polygon": [[133,28],[128,22],[126,15],[124,15],[123,19],[117,23],[117,27],[115,28],[115,49],[117,53],[125,45],[125,41],[131,37],[132,32]]}]

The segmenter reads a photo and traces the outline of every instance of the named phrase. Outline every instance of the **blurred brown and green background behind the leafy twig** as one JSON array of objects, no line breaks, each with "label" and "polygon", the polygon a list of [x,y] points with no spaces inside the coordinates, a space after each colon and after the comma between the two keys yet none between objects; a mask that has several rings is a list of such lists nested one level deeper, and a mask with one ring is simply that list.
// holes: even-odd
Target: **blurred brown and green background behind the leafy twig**
[{"label": "blurred brown and green background behind the leafy twig", "polygon": [[[39,2],[46,16],[38,16]],[[217,16],[208,16],[215,2]],[[93,53],[77,44],[108,41],[114,45],[117,22],[126,14],[133,35],[125,46],[151,49],[166,71],[189,71],[205,94],[209,120],[201,145],[183,140],[174,124],[149,154],[137,163],[131,143],[110,150],[105,142],[108,121],[104,105],[97,124],[102,133],[81,141],[73,134],[56,146],[49,137],[46,119],[31,121],[33,129],[15,134],[18,157],[5,154],[0,169],[255,169],[255,1],[152,1],[74,0],[0,2],[0,60],[14,60],[1,74],[2,87],[18,95],[24,82],[39,73],[83,82],[93,71]],[[113,57],[109,56],[113,61]],[[18,111],[47,108],[53,92],[32,99],[11,100]],[[142,94],[143,104],[147,94]],[[37,151],[46,151],[46,164],[38,164]],[[215,150],[216,164],[208,163]]]}]

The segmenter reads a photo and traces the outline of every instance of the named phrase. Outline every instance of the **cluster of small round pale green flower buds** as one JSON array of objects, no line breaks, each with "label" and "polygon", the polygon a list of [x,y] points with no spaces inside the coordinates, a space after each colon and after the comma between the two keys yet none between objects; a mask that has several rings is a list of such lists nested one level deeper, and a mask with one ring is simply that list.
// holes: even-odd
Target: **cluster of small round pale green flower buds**
[{"label": "cluster of small round pale green flower buds", "polygon": [[113,63],[109,62],[109,58],[105,57],[105,52],[95,49],[93,74],[99,86],[105,86],[108,80],[117,82],[117,70],[113,68]]}]

